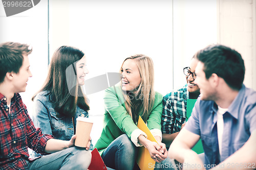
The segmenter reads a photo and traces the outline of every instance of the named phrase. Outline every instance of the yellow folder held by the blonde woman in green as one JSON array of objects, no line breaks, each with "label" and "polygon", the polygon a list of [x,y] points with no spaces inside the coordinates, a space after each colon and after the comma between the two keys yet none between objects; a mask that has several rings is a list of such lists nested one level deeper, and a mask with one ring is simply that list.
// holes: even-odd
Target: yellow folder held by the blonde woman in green
[{"label": "yellow folder held by the blonde woman in green", "polygon": [[[140,116],[137,127],[147,135],[148,140],[157,142]],[[151,170],[154,169],[156,162],[151,158],[150,152],[145,147],[139,147],[137,163],[141,170]]]}]

